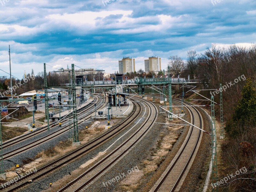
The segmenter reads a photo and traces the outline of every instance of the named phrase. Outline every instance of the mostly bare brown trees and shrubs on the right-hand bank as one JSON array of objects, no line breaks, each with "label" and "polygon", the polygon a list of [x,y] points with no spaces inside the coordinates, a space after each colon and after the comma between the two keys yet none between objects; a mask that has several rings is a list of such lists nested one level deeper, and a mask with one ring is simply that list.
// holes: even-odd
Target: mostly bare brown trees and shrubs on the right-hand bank
[{"label": "mostly bare brown trees and shrubs on the right-hand bank", "polygon": [[[188,51],[185,65],[187,73],[201,83],[200,89],[219,89],[225,85],[223,114],[226,139],[221,148],[219,177],[236,172],[242,167],[247,173],[236,176],[219,191],[254,191],[256,189],[256,45],[243,47],[231,45],[228,48],[213,44],[198,54]],[[240,80],[239,80],[240,79]],[[223,86],[224,87],[224,86]],[[191,93],[192,94],[192,93]],[[210,98],[210,91],[202,91]],[[220,94],[214,100],[220,103]],[[202,101],[204,102],[204,101]],[[219,105],[215,115],[220,116]]]}]

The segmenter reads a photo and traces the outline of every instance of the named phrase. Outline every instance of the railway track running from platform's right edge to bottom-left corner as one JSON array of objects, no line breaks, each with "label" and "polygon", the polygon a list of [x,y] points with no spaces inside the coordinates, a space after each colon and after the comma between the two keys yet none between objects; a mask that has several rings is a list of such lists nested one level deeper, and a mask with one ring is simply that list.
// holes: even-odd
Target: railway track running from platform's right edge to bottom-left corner
[{"label": "railway track running from platform's right edge to bottom-left corner", "polygon": [[10,186],[6,186],[5,188],[0,188],[1,191],[20,191],[22,188],[25,188],[28,185],[28,181],[38,181],[44,177],[47,177],[49,174],[61,169],[68,163],[74,162],[80,157],[84,156],[85,154],[89,153],[96,147],[99,147],[104,142],[111,139],[113,136],[124,130],[127,126],[132,124],[136,117],[141,113],[142,109],[138,103],[134,103],[135,109],[133,110],[132,114],[121,124],[116,127],[113,127],[108,132],[104,133],[100,137],[92,140],[91,142],[85,144],[84,146],[76,149],[75,151],[61,157],[60,159],[40,168],[37,172],[32,172],[23,178],[16,180]]}]

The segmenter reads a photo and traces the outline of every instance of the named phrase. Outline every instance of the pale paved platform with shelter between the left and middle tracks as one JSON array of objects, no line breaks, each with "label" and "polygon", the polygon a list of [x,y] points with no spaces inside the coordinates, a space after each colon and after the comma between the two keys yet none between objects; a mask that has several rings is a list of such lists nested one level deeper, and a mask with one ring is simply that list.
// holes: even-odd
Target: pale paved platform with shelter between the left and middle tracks
[{"label": "pale paved platform with shelter between the left and middle tracks", "polygon": [[[108,105],[107,105],[108,107]],[[99,110],[96,110],[96,118],[95,118],[95,113],[92,113],[92,119],[108,119],[108,108],[105,107],[103,110],[101,110],[103,113],[102,115],[99,115]],[[109,115],[112,117],[116,118],[125,118],[130,115],[133,109],[133,104],[131,100],[126,100],[126,104],[124,106],[124,103],[122,103],[119,106],[112,106],[111,109],[109,109]]]}]

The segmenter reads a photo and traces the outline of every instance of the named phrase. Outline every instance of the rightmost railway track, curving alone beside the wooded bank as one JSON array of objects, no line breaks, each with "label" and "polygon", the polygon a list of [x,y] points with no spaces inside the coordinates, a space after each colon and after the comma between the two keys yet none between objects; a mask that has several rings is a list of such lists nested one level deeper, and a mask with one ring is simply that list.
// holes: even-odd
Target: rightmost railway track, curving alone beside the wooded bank
[{"label": "rightmost railway track, curving alone beside the wooded bank", "polygon": [[[179,100],[175,101],[180,103]],[[183,101],[183,103],[190,106],[190,104],[187,102]],[[195,107],[189,107],[188,110],[192,117],[192,124],[202,129],[203,122],[199,111]],[[161,177],[157,180],[155,185],[151,188],[150,192],[172,192],[180,190],[180,187],[183,184],[196,157],[196,153],[202,139],[202,134],[203,132],[201,130],[195,128],[194,126],[190,126],[189,133],[180,150],[173,158],[171,164],[167,166]]]}]

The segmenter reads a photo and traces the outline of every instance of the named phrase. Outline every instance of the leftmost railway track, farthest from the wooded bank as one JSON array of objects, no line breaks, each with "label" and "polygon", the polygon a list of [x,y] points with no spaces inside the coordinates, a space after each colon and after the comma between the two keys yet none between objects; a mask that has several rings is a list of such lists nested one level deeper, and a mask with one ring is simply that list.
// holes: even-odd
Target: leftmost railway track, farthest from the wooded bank
[{"label": "leftmost railway track, farthest from the wooded bank", "polygon": [[[96,96],[96,99],[93,100],[93,102],[100,102],[99,97]],[[77,112],[84,112],[85,110],[89,110],[89,109],[93,108],[93,107],[90,107],[90,106],[93,105],[93,102],[88,103],[88,105],[86,105],[86,106],[84,106],[83,108],[77,110]],[[68,121],[68,120],[64,120],[63,122],[67,122],[67,121]],[[50,126],[52,126],[52,125],[54,125],[54,124],[55,124],[55,123],[52,123],[52,124],[50,124]],[[56,126],[57,126],[57,125],[56,125]],[[4,148],[7,148],[7,147],[11,147],[11,146],[13,146],[13,145],[15,145],[15,144],[17,144],[17,143],[20,143],[20,142],[22,142],[22,141],[24,141],[24,140],[26,140],[26,139],[28,139],[28,138],[34,137],[34,136],[36,136],[36,135],[38,135],[38,134],[40,134],[40,133],[42,133],[42,132],[45,132],[45,131],[47,131],[47,130],[48,130],[48,129],[47,129],[47,126],[44,126],[44,127],[40,128],[40,129],[36,129],[34,132],[28,132],[28,133],[23,134],[23,135],[21,135],[21,136],[19,136],[19,137],[13,138],[13,139],[8,140],[8,141],[5,141],[5,142],[3,142],[3,149],[4,149]]]}]

